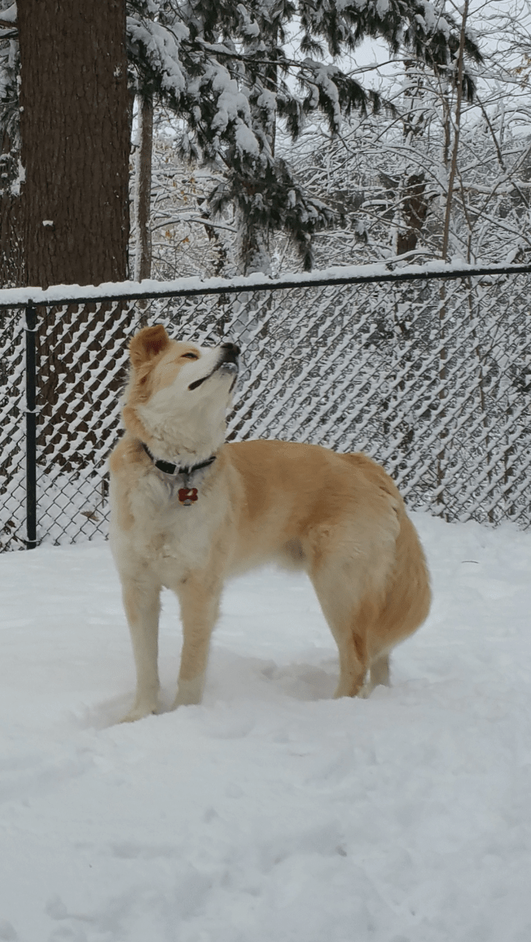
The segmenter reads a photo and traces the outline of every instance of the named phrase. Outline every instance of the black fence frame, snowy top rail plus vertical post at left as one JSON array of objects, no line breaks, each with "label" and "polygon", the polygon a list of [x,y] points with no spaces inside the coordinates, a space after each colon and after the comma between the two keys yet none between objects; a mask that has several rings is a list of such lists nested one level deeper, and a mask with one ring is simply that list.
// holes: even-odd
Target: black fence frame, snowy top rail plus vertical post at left
[{"label": "black fence frame, snowy top rail plus vertical post at left", "polygon": [[[410,282],[420,280],[455,280],[489,275],[517,275],[531,274],[531,265],[494,265],[494,266],[410,266],[394,271],[383,272],[382,266],[367,266],[373,269],[359,274],[350,268],[334,268],[330,274],[324,272],[309,275],[288,275],[278,280],[257,280],[256,276],[250,278],[237,278],[232,281],[212,279],[210,282],[198,283],[198,280],[182,279],[181,282],[159,283],[153,288],[153,283],[142,287],[141,284],[122,283],[117,288],[130,287],[130,290],[101,293],[94,289],[93,293],[76,295],[65,293],[64,286],[51,287],[45,291],[40,288],[7,289],[0,291],[0,310],[24,308],[25,313],[25,455],[26,455],[26,549],[34,549],[37,540],[37,375],[36,375],[36,341],[38,330],[38,307],[54,307],[57,304],[89,304],[105,303],[105,301],[137,301],[156,300],[164,298],[185,298],[194,295],[208,294],[237,294],[249,291],[282,291],[287,288],[298,287],[324,287],[334,284],[371,284],[385,282]],[[374,270],[378,268],[378,270]],[[188,286],[186,286],[188,283]],[[193,284],[191,284],[193,283]],[[76,285],[75,285],[76,286]],[[74,285],[72,285],[72,288]],[[105,285],[104,285],[105,287]],[[25,298],[24,298],[25,295]],[[23,300],[24,298],[24,300]],[[5,300],[8,299],[8,300]]]}]

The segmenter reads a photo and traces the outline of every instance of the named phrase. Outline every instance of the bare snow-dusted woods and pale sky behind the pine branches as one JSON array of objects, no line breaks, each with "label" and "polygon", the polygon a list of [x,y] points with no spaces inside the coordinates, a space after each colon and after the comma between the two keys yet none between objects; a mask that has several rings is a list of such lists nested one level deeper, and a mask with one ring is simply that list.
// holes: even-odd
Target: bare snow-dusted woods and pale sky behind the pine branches
[{"label": "bare snow-dusted woods and pale sky behind the pine branches", "polygon": [[[337,131],[313,115],[295,141],[278,130],[277,153],[330,211],[328,224],[313,234],[317,268],[446,256],[472,264],[529,258],[530,10],[527,3],[503,6],[481,3],[469,11],[483,60],[471,69],[464,101],[422,61],[385,60],[381,42],[363,42],[355,58],[365,64],[352,71],[378,92],[380,106],[343,116]],[[237,214],[231,205],[217,217],[212,212],[223,172],[183,165],[179,130],[167,109],[155,110],[154,128],[153,274],[238,273]],[[136,240],[133,253],[135,246]],[[268,248],[273,274],[300,266],[285,231]]]}]

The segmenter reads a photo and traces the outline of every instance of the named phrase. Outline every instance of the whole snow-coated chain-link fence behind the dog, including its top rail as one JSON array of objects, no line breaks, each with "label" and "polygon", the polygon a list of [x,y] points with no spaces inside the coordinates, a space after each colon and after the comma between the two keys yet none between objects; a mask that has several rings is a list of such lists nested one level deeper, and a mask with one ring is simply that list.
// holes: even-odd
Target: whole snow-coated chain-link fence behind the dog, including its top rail
[{"label": "whole snow-coated chain-link fence behind the dog, including its top rail", "polygon": [[0,291],[0,548],[105,534],[127,340],[142,324],[243,368],[229,438],[363,450],[411,509],[531,524],[531,267],[331,268]]}]

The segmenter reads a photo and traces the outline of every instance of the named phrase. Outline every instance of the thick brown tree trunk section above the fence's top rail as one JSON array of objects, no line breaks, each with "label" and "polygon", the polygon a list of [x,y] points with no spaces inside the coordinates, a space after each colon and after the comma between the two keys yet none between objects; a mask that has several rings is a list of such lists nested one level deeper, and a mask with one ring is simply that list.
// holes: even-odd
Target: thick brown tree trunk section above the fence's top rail
[{"label": "thick brown tree trunk section above the fence's top rail", "polygon": [[123,0],[19,3],[24,282],[123,281],[129,125]]}]

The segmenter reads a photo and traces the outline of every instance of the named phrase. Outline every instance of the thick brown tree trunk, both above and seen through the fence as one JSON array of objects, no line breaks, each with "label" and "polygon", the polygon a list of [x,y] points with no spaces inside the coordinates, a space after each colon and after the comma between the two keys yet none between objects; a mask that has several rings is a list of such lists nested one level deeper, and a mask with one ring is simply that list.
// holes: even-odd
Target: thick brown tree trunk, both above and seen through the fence
[{"label": "thick brown tree trunk, both above and seen through the fence", "polygon": [[[18,26],[24,173],[15,221],[23,247],[21,282],[47,287],[123,281],[130,151],[125,2],[23,0]],[[115,435],[109,393],[123,379],[126,325],[120,306],[78,311],[73,305],[67,311],[40,309],[39,315],[39,463],[44,474],[94,468]],[[99,364],[105,371],[94,382]],[[88,401],[98,405],[88,410]]]}]

